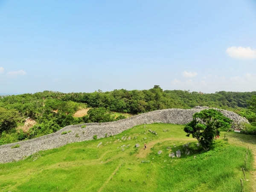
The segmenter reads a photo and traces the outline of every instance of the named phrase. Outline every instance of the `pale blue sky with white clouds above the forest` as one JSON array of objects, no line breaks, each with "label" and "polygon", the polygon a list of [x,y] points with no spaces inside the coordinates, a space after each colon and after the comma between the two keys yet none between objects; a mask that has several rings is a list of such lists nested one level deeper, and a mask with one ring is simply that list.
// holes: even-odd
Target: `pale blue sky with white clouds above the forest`
[{"label": "pale blue sky with white clouds above the forest", "polygon": [[0,93],[256,91],[255,0],[0,0]]}]

